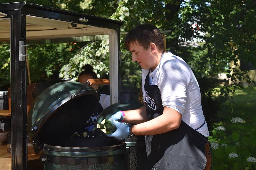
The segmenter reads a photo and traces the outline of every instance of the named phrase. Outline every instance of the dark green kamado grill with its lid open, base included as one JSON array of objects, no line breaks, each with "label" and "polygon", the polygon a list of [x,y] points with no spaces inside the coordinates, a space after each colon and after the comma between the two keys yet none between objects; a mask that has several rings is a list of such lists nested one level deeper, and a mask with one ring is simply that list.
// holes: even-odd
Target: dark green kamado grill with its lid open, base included
[{"label": "dark green kamado grill with its lid open, base included", "polygon": [[69,138],[98,103],[93,88],[74,81],[56,83],[36,97],[28,113],[28,132],[35,152],[43,151],[45,170],[124,169],[123,141],[105,135]]}]

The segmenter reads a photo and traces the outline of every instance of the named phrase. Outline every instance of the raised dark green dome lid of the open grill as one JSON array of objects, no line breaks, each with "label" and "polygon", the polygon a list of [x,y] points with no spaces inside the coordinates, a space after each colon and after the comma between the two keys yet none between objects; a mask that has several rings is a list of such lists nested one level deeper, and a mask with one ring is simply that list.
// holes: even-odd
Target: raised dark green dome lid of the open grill
[{"label": "raised dark green dome lid of the open grill", "polygon": [[85,87],[79,95],[68,96],[82,86],[75,81],[59,82],[36,97],[28,112],[29,140],[35,152],[42,150],[45,141],[68,138],[90,118],[99,103],[97,92]]}]

